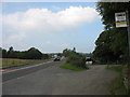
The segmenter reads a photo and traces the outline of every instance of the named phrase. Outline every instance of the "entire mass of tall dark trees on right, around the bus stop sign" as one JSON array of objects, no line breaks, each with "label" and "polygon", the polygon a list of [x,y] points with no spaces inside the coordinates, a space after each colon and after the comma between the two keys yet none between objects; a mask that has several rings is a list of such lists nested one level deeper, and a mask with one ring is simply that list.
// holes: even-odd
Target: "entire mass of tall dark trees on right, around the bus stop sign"
[{"label": "entire mass of tall dark trees on right, around the bus stop sign", "polygon": [[128,2],[98,2],[96,11],[102,16],[105,29],[95,41],[93,57],[100,63],[126,63],[128,60],[127,27],[116,28],[115,13],[129,10]]}]

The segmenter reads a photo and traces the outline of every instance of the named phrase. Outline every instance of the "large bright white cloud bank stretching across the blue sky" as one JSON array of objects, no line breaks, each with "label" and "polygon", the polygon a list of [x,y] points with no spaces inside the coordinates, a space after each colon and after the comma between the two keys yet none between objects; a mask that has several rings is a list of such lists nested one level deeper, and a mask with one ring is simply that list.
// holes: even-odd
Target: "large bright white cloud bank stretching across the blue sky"
[{"label": "large bright white cloud bank stretching across the blue sky", "polygon": [[22,41],[30,33],[62,32],[77,28],[84,23],[91,23],[96,18],[99,18],[98,12],[89,6],[69,6],[56,13],[48,9],[29,9],[26,12],[2,15],[3,27],[13,30],[13,33],[8,37],[9,39],[3,40],[3,43]]}]

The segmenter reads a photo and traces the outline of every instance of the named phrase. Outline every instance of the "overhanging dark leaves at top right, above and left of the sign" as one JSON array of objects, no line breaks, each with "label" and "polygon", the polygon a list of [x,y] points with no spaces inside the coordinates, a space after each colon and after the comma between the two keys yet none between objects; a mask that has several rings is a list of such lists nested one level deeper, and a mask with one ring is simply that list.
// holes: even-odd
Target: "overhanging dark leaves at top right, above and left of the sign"
[{"label": "overhanging dark leaves at top right, above and left of the sign", "polygon": [[96,10],[102,16],[106,29],[115,27],[115,13],[129,10],[128,2],[98,2]]}]

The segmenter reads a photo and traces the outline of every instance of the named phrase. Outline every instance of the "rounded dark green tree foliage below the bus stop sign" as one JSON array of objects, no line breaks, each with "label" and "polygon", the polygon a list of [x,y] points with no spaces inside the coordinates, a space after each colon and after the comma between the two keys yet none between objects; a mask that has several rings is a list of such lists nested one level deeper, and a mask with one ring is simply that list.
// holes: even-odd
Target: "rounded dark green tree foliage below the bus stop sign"
[{"label": "rounded dark green tree foliage below the bus stop sign", "polygon": [[125,61],[128,54],[127,32],[125,29],[103,31],[95,41],[95,44],[96,47],[93,55],[100,61]]}]

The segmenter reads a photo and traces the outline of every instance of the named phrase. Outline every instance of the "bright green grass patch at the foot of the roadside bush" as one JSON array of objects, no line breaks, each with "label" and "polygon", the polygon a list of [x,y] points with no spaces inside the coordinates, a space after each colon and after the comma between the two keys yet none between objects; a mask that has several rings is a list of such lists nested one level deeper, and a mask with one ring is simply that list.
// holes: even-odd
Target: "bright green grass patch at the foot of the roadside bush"
[{"label": "bright green grass patch at the foot of the roadside bush", "polygon": [[84,68],[81,68],[81,67],[76,67],[74,65],[70,65],[70,64],[63,64],[60,66],[60,68],[63,68],[63,69],[69,69],[69,70],[74,70],[74,71],[82,71],[82,70],[87,70]]}]

